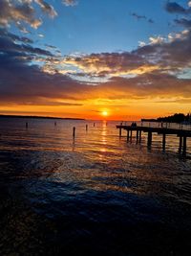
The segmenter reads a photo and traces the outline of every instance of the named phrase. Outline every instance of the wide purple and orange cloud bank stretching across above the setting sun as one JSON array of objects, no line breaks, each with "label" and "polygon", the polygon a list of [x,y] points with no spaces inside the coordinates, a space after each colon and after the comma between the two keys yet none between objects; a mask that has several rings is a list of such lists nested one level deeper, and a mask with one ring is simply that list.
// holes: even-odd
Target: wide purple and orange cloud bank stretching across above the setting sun
[{"label": "wide purple and orange cloud bank stretching across above the setting sun", "polygon": [[[1,105],[82,105],[85,101],[99,99],[143,100],[158,98],[191,98],[190,79],[179,79],[165,71],[168,61],[175,62],[178,67],[183,61],[191,59],[189,38],[181,42],[176,39],[171,43],[156,43],[137,49],[134,53],[103,53],[90,56],[67,58],[86,72],[98,72],[98,76],[115,74],[110,80],[91,84],[77,81],[69,75],[58,72],[44,72],[42,65],[32,64],[34,58],[47,58],[52,61],[63,61],[44,49],[34,48],[23,42],[22,37],[6,33],[0,36],[0,102]],[[21,43],[16,43],[19,41]],[[182,49],[182,44],[186,47]],[[178,51],[179,49],[179,51]],[[166,62],[166,52],[170,52]],[[159,63],[147,60],[151,55],[161,55]],[[190,53],[190,57],[188,56]],[[186,58],[183,58],[186,56]],[[45,58],[43,58],[43,56]],[[180,59],[181,57],[181,59]],[[187,60],[186,60],[187,59]],[[149,65],[150,63],[150,65]],[[59,62],[60,65],[60,62]],[[153,67],[153,69],[151,69]],[[127,70],[139,71],[135,77],[121,77]],[[83,102],[83,103],[82,103]]]}]

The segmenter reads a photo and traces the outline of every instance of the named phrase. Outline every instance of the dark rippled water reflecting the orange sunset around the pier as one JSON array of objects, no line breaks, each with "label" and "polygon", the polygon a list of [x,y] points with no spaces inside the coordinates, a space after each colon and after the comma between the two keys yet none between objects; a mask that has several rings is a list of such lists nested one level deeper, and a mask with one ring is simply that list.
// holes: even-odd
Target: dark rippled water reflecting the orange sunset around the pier
[{"label": "dark rippled water reflecting the orange sunset around the pier", "polygon": [[190,255],[191,160],[178,138],[164,153],[159,136],[148,150],[111,122],[28,122],[0,120],[0,255]]}]

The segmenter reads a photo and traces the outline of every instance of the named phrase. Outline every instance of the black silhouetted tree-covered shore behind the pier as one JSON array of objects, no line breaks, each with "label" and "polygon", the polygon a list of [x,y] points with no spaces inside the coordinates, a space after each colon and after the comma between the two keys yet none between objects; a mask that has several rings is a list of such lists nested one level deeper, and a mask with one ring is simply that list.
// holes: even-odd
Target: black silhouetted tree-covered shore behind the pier
[{"label": "black silhouetted tree-covered shore behind the pier", "polygon": [[157,119],[141,119],[142,122],[168,122],[168,123],[184,123],[191,124],[191,114],[184,115],[182,113],[176,113],[171,116],[159,117]]}]

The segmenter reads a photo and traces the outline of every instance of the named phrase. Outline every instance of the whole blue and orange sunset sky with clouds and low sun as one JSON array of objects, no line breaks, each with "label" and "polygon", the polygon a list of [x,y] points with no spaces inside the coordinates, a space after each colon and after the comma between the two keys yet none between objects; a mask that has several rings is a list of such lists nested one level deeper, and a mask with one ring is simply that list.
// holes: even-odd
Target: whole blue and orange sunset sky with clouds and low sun
[{"label": "whole blue and orange sunset sky with clouds and low sun", "polygon": [[0,0],[0,114],[191,110],[191,1]]}]

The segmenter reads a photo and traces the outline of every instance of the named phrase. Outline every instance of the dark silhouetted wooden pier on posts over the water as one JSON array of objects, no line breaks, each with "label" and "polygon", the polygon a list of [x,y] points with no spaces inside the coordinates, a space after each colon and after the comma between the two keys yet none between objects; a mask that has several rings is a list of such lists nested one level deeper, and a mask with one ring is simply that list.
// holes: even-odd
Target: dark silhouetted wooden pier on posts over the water
[{"label": "dark silhouetted wooden pier on posts over the water", "polygon": [[122,129],[127,131],[127,141],[132,141],[133,131],[136,131],[136,139],[137,143],[141,142],[141,134],[142,132],[147,133],[147,145],[151,147],[152,145],[152,135],[153,133],[158,133],[161,135],[161,142],[162,142],[162,150],[165,151],[166,146],[166,137],[169,134],[177,135],[180,138],[180,145],[179,145],[179,152],[182,155],[186,154],[186,142],[187,138],[191,137],[191,130],[187,129],[179,129],[179,128],[152,128],[152,127],[133,127],[133,126],[117,126],[119,129],[119,137],[122,135]]}]

